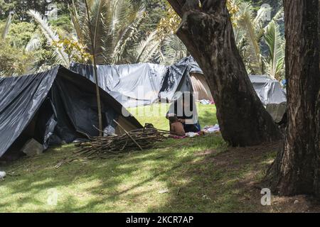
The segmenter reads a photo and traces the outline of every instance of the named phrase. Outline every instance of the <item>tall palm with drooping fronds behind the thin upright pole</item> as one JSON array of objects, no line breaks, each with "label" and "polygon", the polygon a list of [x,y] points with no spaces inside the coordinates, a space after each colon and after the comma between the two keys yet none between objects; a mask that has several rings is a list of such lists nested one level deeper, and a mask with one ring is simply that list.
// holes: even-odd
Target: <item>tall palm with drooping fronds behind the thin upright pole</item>
[{"label": "tall palm with drooping fronds behind the thin upright pole", "polygon": [[[129,62],[132,43],[137,40],[137,28],[145,16],[143,1],[91,0],[87,1],[87,9],[84,4],[73,1],[69,9],[78,40],[96,56],[97,64]],[[87,11],[95,34],[94,51],[86,26]]]}]

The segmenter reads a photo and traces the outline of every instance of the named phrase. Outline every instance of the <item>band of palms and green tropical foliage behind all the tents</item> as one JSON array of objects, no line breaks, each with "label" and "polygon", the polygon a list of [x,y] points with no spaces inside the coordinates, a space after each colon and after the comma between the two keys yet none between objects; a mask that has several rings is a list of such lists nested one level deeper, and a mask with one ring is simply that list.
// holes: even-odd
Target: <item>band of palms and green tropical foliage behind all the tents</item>
[{"label": "band of palms and green tropical foliage behind all the tents", "polygon": [[[272,4],[272,0],[264,3]],[[47,4],[33,4],[26,9],[36,10],[26,11],[28,20],[22,22],[18,13],[23,11],[10,13],[12,7],[20,7],[18,1],[1,4],[1,10],[6,11],[5,20],[0,21],[1,39],[8,48],[20,50],[19,56],[28,55],[31,63],[26,64],[25,72],[47,70],[57,64],[68,67],[72,61],[90,63],[93,54],[97,64],[166,65],[188,55],[175,35],[181,19],[165,0],[88,0],[91,26],[82,0],[55,1],[60,7],[55,19],[43,14]],[[250,74],[280,79],[284,72],[284,37],[278,21],[283,13],[275,11],[279,9],[277,4],[272,21],[265,21],[268,9],[260,9],[261,4],[228,0],[235,40]],[[14,74],[20,74],[18,71]]]}]

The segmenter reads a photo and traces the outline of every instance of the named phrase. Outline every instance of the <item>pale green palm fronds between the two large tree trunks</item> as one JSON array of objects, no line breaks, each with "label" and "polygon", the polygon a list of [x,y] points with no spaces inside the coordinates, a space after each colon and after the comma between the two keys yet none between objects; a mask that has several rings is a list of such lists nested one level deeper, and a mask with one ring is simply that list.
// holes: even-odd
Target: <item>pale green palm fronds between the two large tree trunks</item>
[{"label": "pale green palm fronds between the two large tree trunks", "polygon": [[[251,74],[267,72],[270,77],[279,79],[284,66],[284,38],[277,20],[283,16],[283,9],[265,26],[264,17],[269,9],[260,9],[257,16],[253,16],[250,3],[233,1],[238,4],[238,11],[235,13],[235,41],[248,71]],[[262,41],[267,44],[268,56],[262,54]]]}]

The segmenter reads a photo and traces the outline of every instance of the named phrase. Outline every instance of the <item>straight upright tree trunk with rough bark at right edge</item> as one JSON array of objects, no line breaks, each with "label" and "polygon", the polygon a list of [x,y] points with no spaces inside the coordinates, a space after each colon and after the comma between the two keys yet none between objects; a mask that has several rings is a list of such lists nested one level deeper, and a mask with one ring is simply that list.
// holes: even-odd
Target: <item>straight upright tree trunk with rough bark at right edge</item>
[{"label": "straight upright tree trunk with rough bark at right edge", "polygon": [[269,172],[281,195],[319,195],[318,8],[319,0],[284,0],[288,126]]}]

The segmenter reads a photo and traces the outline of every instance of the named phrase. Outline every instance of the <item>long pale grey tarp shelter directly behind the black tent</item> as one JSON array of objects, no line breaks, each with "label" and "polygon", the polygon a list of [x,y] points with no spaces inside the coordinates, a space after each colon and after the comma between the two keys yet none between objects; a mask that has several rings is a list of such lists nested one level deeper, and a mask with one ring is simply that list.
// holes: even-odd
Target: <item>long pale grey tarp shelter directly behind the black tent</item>
[{"label": "long pale grey tarp shelter directly behind the black tent", "polygon": [[[70,70],[95,82],[92,65],[73,62]],[[98,65],[99,86],[125,107],[143,106],[158,100],[165,65]]]}]

